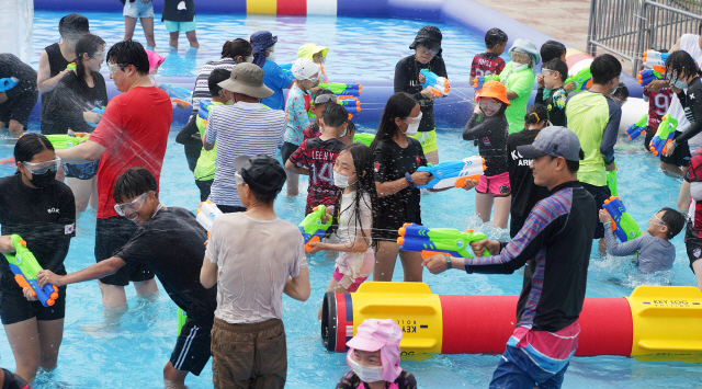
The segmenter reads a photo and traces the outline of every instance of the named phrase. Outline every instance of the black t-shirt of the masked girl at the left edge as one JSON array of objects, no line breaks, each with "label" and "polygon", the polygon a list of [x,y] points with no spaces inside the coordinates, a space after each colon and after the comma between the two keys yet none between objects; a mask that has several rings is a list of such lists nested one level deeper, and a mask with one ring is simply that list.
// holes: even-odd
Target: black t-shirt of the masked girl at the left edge
[{"label": "black t-shirt of the masked girl at the left edge", "polygon": [[[64,260],[76,236],[76,199],[66,184],[56,181],[38,190],[24,185],[20,174],[0,179],[0,225],[1,234],[16,233],[26,241],[42,268],[66,274]],[[22,295],[4,258],[0,278],[2,293]]]}]

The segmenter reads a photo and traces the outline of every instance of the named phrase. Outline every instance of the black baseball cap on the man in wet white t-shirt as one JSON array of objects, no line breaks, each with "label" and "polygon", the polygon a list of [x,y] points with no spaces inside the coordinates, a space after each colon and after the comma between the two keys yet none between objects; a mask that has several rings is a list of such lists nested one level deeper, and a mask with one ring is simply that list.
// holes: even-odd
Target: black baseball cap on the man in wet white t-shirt
[{"label": "black baseball cap on the man in wet white t-shirt", "polygon": [[267,155],[237,157],[231,167],[241,174],[247,185],[251,186],[256,192],[278,193],[285,183],[285,169],[275,158]]}]

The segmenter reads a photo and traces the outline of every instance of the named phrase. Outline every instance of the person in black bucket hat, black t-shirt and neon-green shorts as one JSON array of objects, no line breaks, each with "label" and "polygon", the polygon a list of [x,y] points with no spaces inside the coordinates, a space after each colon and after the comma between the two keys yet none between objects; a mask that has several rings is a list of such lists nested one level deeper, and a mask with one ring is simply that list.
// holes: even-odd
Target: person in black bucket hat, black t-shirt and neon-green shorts
[{"label": "person in black bucket hat, black t-shirt and neon-green shorts", "polygon": [[421,69],[429,69],[439,77],[449,78],[446,66],[441,58],[441,31],[433,25],[422,27],[417,33],[415,42],[409,48],[415,54],[405,57],[395,66],[395,93],[407,92],[419,103],[422,119],[419,133],[412,138],[421,144],[421,148],[430,163],[439,163],[439,146],[437,145],[437,125],[434,123],[434,94],[429,89],[422,89],[424,77]]}]

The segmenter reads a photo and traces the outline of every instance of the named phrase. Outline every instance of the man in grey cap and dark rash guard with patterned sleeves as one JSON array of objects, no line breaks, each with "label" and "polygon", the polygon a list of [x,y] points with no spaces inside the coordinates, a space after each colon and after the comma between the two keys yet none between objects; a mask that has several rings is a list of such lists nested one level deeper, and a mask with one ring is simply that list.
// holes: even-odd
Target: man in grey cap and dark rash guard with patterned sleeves
[{"label": "man in grey cap and dark rash guard with patterned sleeves", "polygon": [[597,207],[577,182],[584,155],[571,130],[546,127],[532,145],[517,150],[534,159],[534,183],[548,187],[551,196],[534,206],[509,243],[487,239],[472,243],[476,253],[488,249],[491,256],[439,254],[423,264],[433,274],[446,268],[510,274],[531,259],[517,304],[517,329],[507,342],[490,388],[559,388],[578,346],[578,317],[585,301]]}]

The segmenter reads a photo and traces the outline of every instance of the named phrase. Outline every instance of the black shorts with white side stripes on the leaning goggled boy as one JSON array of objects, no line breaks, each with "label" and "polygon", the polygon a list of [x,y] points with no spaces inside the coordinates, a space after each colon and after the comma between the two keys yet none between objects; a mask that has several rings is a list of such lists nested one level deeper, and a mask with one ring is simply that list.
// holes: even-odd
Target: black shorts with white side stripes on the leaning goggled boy
[{"label": "black shorts with white side stripes on the leaning goggled boy", "polygon": [[215,313],[207,318],[189,316],[185,319],[180,335],[176,341],[176,348],[171,353],[171,364],[179,370],[185,370],[200,376],[200,371],[205,367],[212,352],[212,325]]}]

